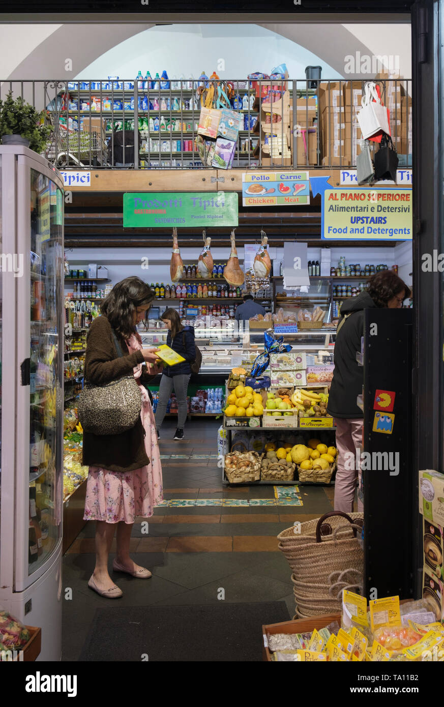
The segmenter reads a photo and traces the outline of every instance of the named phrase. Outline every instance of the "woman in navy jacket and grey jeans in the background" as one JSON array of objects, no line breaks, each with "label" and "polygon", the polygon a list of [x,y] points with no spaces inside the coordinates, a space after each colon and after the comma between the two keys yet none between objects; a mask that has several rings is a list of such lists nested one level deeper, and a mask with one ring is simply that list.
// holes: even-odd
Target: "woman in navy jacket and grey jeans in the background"
[{"label": "woman in navy jacket and grey jeans in the background", "polygon": [[159,399],[156,409],[156,423],[158,429],[163,423],[165,412],[174,389],[177,398],[177,430],[175,440],[183,439],[183,428],[187,419],[187,391],[188,382],[191,376],[191,366],[189,365],[196,358],[196,347],[194,345],[193,327],[182,327],[182,322],[174,309],[163,312],[162,320],[168,331],[167,346],[180,354],[185,361],[176,363],[175,366],[165,366],[163,376],[160,378]]}]

